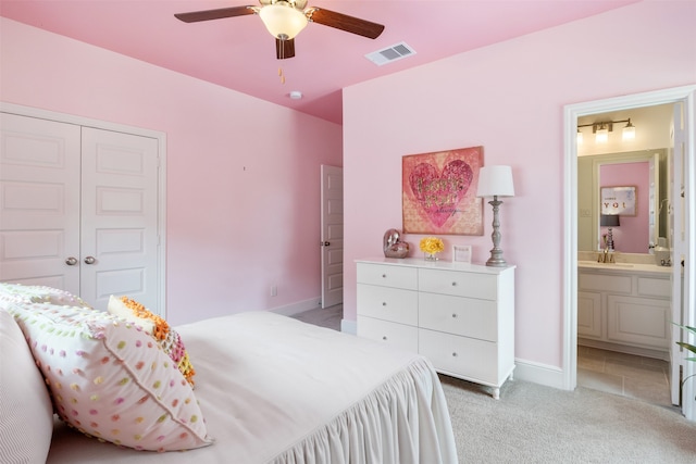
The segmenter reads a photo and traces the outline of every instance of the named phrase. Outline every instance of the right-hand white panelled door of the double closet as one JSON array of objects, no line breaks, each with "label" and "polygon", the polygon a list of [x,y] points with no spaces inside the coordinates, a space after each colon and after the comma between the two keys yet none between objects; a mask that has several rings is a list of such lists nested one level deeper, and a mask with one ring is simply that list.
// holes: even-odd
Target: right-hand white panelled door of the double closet
[{"label": "right-hand white panelled door of the double closet", "polygon": [[83,127],[82,298],[158,308],[158,140]]}]

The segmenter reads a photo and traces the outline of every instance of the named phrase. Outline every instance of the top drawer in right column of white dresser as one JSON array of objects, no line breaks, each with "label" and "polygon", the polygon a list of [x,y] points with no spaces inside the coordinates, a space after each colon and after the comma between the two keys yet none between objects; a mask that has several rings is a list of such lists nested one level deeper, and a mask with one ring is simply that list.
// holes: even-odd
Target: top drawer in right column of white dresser
[{"label": "top drawer in right column of white dresser", "polygon": [[419,269],[418,289],[431,293],[495,300],[497,276],[443,269]]}]

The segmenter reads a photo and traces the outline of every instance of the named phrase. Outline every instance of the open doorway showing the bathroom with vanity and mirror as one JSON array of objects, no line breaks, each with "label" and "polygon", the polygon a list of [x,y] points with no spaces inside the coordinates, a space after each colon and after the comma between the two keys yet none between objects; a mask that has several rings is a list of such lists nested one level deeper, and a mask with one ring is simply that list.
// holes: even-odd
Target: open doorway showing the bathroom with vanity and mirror
[{"label": "open doorway showing the bathroom with vanity and mirror", "polygon": [[[656,265],[658,238],[669,237],[669,156],[674,103],[634,108],[577,118],[577,386],[671,406],[669,344],[671,343],[671,291],[668,266],[658,279],[654,274],[625,267],[583,266],[601,256],[611,242],[617,262]],[[606,138],[597,140],[599,122],[607,125]],[[625,135],[630,137],[625,137]],[[636,134],[637,133],[637,134]],[[631,186],[635,200],[630,214],[616,215],[616,226],[601,226],[600,192]],[[621,187],[619,187],[621,188]],[[663,208],[660,208],[663,206]],[[620,220],[620,221],[619,221]],[[609,231],[609,235],[607,234]],[[602,238],[610,237],[609,240]],[[602,244],[604,243],[604,244]],[[639,298],[638,279],[661,287],[656,299]],[[595,279],[630,280],[635,298],[624,289],[612,292],[593,288]],[[641,300],[638,304],[633,304]],[[649,303],[648,303],[649,302]],[[646,304],[647,303],[647,304]],[[625,325],[626,329],[620,327]],[[622,331],[623,330],[623,331]]]}]

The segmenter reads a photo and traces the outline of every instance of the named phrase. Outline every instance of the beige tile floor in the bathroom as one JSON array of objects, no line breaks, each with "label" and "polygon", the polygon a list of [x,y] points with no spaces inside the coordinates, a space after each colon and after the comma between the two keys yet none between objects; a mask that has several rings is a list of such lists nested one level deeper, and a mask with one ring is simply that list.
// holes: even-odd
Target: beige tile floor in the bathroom
[{"label": "beige tile floor in the bathroom", "polygon": [[579,346],[577,385],[672,406],[667,361]]}]

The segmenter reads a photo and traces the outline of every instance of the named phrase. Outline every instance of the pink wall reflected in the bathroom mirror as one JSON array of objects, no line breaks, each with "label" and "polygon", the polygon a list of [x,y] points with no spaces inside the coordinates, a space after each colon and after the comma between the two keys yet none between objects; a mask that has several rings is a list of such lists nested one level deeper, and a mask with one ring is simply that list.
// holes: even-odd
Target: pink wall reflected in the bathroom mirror
[{"label": "pink wall reflected in the bathroom mirror", "polygon": [[[599,186],[635,186],[636,211],[635,216],[621,215],[619,227],[613,227],[614,249],[624,253],[648,253],[650,241],[648,223],[650,166],[647,161],[643,163],[604,164],[599,168]],[[601,234],[606,234],[605,227]]]}]

